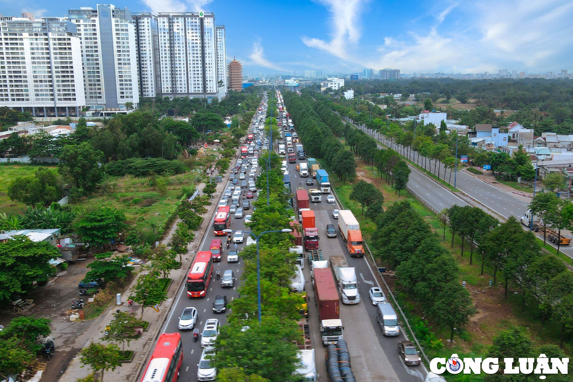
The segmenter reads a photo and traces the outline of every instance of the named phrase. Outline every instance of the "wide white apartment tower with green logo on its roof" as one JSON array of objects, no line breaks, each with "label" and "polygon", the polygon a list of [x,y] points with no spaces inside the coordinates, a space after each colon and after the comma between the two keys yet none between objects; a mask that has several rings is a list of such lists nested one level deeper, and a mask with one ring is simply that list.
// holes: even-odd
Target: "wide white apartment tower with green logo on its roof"
[{"label": "wide white apartment tower with green logo on its roof", "polygon": [[217,42],[213,13],[159,13],[163,96],[218,97]]}]

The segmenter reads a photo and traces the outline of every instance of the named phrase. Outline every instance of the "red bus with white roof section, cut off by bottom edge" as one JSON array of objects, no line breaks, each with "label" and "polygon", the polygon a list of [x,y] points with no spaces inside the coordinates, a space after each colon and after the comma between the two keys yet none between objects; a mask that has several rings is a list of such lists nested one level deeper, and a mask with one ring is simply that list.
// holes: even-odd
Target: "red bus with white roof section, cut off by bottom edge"
[{"label": "red bus with white roof section, cut off by bottom edge", "polygon": [[163,333],[155,345],[141,382],[175,382],[183,363],[180,333]]}]

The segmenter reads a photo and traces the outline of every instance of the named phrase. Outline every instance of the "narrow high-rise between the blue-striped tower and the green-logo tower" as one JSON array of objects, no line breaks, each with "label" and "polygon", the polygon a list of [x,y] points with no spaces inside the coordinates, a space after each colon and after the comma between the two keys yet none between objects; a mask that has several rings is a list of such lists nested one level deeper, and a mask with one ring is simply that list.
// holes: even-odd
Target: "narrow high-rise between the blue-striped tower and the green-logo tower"
[{"label": "narrow high-rise between the blue-striped tower and the green-logo tower", "polygon": [[131,20],[135,26],[139,95],[144,98],[160,96],[161,65],[157,16],[151,13],[132,13]]}]

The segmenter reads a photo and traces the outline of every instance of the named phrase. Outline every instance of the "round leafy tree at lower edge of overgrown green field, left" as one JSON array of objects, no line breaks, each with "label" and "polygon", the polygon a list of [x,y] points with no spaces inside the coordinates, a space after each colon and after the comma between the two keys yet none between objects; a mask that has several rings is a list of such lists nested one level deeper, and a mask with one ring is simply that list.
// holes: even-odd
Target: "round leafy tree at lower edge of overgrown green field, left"
[{"label": "round leafy tree at lower edge of overgrown green field, left", "polygon": [[118,209],[101,207],[86,213],[74,224],[74,227],[88,243],[104,245],[115,239],[121,230],[127,228],[127,225],[123,223],[124,220],[124,213]]}]

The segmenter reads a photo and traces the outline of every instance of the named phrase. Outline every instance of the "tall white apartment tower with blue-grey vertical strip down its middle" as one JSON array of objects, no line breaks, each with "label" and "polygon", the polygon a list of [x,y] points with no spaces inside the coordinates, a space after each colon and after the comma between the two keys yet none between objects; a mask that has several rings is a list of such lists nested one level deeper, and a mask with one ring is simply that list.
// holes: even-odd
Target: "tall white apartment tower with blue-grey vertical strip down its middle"
[{"label": "tall white apartment tower with blue-grey vertical strip down its middle", "polygon": [[107,116],[139,106],[135,26],[131,13],[111,4],[70,9],[83,53],[86,106]]}]

